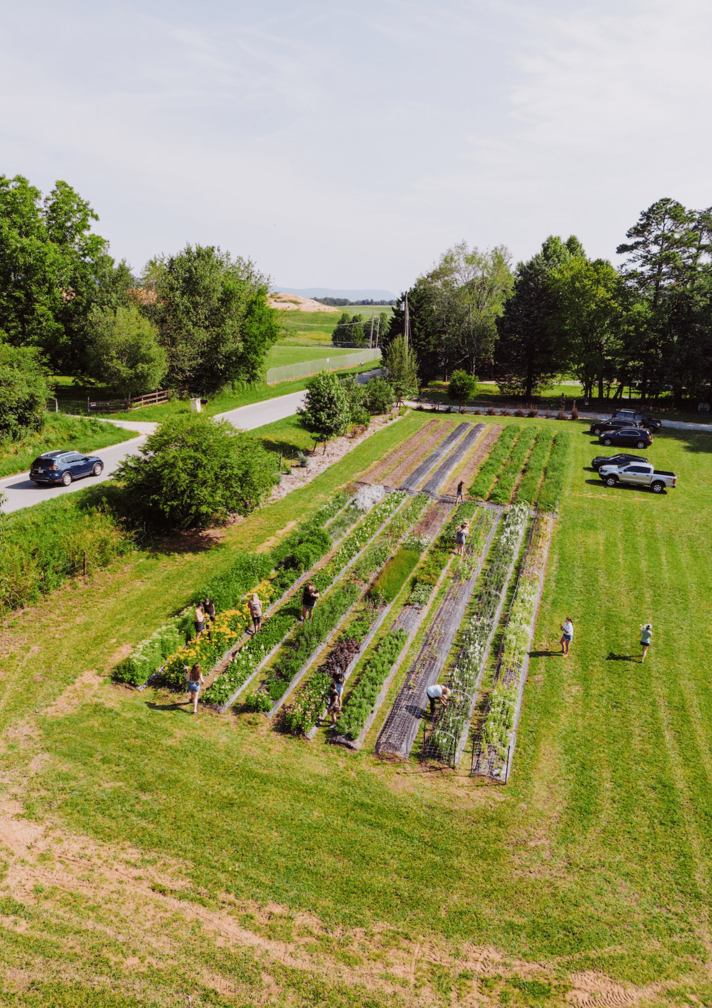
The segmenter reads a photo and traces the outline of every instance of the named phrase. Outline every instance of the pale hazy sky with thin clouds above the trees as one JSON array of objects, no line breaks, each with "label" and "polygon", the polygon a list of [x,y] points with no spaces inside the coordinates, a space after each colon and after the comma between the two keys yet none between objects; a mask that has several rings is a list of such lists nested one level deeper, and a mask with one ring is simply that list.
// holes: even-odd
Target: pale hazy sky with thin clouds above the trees
[{"label": "pale hazy sky with thin clouds above the trees", "polygon": [[461,241],[591,256],[712,205],[708,0],[0,0],[0,172],[63,178],[135,271],[400,291]]}]

